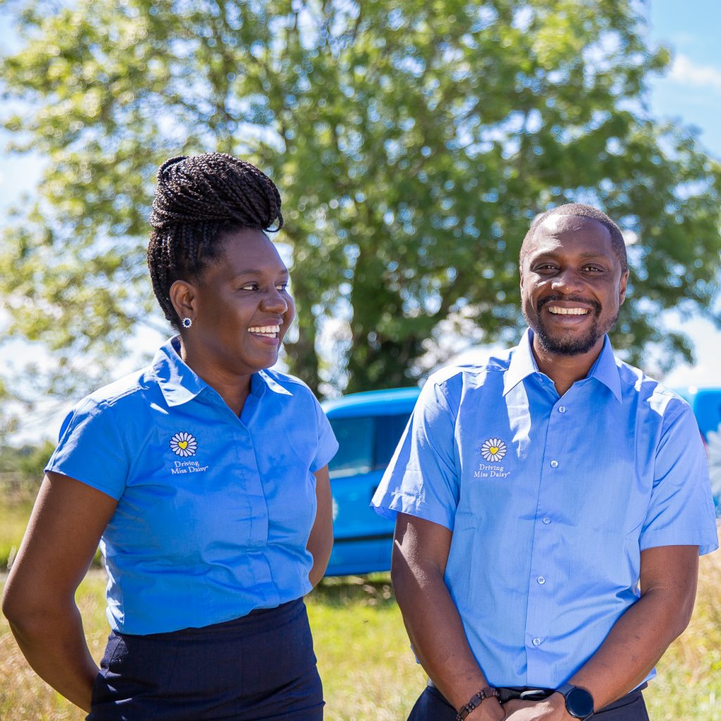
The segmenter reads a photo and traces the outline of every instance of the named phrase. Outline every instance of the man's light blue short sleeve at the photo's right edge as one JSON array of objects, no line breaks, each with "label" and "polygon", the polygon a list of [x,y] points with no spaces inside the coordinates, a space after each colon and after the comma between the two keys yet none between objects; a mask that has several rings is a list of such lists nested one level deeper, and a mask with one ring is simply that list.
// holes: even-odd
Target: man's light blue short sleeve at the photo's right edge
[{"label": "man's light blue short sleeve at the photo's right edge", "polygon": [[653,490],[640,549],[697,545],[699,555],[707,554],[718,548],[718,539],[699,427],[686,404],[673,404],[667,415],[656,450]]}]

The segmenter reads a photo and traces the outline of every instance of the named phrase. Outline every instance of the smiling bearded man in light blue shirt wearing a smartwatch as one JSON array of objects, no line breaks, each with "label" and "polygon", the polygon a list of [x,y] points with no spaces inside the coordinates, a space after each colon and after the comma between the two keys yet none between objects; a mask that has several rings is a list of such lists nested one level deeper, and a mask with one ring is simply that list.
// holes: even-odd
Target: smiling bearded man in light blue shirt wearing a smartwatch
[{"label": "smiling bearded man in light blue shirt wearing a smartwatch", "polygon": [[608,216],[544,213],[520,345],[423,388],[373,498],[430,676],[412,721],[648,719],[640,691],[718,544],[691,409],[606,337],[628,277]]}]

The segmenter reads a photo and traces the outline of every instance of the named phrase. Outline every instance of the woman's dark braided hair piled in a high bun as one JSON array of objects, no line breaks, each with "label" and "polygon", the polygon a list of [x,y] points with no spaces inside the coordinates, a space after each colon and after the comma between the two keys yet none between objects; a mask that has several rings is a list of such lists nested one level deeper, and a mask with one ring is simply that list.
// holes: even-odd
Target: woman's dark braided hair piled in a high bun
[{"label": "woman's dark braided hair piled in a high bun", "polygon": [[165,317],[180,327],[170,286],[176,280],[197,280],[218,257],[221,236],[229,231],[280,230],[280,193],[255,165],[231,155],[171,158],[158,171],[150,224],[153,290]]}]

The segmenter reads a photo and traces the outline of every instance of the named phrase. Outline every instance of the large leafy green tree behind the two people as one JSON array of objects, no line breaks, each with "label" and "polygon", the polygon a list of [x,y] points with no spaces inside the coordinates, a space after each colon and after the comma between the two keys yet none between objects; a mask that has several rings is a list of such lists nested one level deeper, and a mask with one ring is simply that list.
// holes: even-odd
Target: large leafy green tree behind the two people
[{"label": "large leafy green tree behind the two people", "polygon": [[[61,381],[79,355],[122,353],[154,306],[154,172],[218,150],[256,162],[283,193],[299,309],[288,362],[314,389],[413,384],[453,326],[513,340],[523,235],[571,200],[637,238],[616,347],[637,363],[654,343],[666,367],[690,359],[659,316],[711,312],[721,168],[690,131],[647,117],[647,79],[669,54],[647,47],[637,8],[28,2],[25,45],[1,72],[22,112],[4,123],[15,150],[48,164],[4,236],[10,333],[53,349]],[[318,353],[329,320],[330,363]]]}]

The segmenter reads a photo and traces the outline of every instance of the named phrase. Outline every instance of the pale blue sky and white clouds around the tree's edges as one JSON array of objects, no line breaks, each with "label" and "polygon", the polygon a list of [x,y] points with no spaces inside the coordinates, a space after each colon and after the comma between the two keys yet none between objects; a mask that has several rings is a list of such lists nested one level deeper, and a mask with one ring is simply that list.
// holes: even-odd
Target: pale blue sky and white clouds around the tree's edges
[{"label": "pale blue sky and white clouds around the tree's edges", "polygon": [[[650,87],[650,110],[656,118],[672,118],[696,128],[702,145],[721,159],[721,2],[718,0],[645,0],[640,3],[649,23],[651,45],[664,44],[673,50],[668,74],[654,79]],[[0,12],[0,52],[12,50],[14,33],[7,11]],[[42,159],[12,157],[4,151],[8,136],[0,131],[0,213],[23,192],[35,188]],[[0,224],[2,224],[0,216]],[[721,298],[717,305],[721,304]],[[667,314],[668,327],[681,328],[691,335],[696,348],[693,367],[678,366],[665,381],[671,385],[721,385],[718,359],[721,358],[721,332],[702,319],[681,323],[673,313]],[[0,330],[3,324],[0,309]],[[138,339],[146,350],[156,345],[157,336],[146,334]],[[36,351],[35,351],[36,352]],[[22,344],[0,346],[0,362],[22,358]],[[35,428],[36,430],[33,430]],[[35,419],[28,435],[46,428]]]}]

